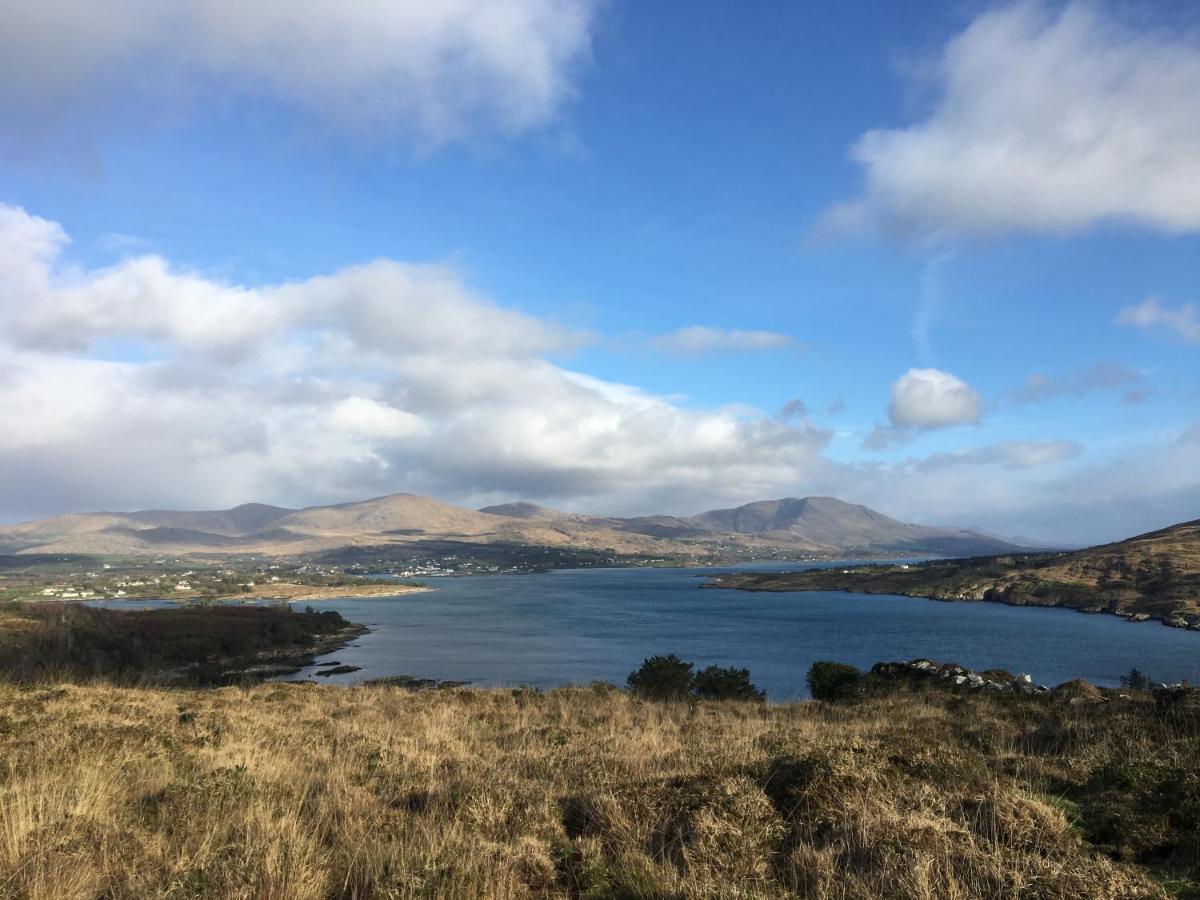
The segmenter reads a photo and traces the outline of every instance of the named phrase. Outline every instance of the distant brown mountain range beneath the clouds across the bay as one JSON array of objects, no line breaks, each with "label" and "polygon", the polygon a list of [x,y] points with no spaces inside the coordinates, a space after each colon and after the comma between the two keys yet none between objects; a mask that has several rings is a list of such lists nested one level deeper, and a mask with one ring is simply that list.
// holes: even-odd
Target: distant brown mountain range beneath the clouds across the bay
[{"label": "distant brown mountain range beneath the clouds across the bay", "polygon": [[812,556],[976,556],[1019,547],[982,532],[900,522],[832,497],[784,498],[696,516],[619,518],[533,503],[473,510],[397,493],[287,509],[88,512],[0,527],[4,553],[306,557],[346,548],[415,551],[432,544],[599,551],[626,557],[716,557],[731,548]]}]

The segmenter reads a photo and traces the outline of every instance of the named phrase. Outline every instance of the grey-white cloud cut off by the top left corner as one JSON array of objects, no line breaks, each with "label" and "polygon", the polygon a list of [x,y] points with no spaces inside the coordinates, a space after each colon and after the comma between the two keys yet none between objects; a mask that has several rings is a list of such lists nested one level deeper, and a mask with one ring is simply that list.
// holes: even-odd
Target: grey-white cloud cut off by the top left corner
[{"label": "grey-white cloud cut off by the top left corner", "polygon": [[[594,0],[44,0],[0,4],[10,139],[108,98],[266,97],[437,145],[515,133],[574,92]],[[156,96],[157,95],[157,96]],[[18,126],[19,127],[13,127]]]}]

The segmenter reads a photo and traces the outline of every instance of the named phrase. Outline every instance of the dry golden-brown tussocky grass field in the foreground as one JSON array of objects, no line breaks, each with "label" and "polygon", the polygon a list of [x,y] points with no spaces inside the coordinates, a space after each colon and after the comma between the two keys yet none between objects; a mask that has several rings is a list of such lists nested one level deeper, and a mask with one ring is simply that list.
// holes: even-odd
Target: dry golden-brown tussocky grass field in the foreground
[{"label": "dry golden-brown tussocky grass field in the foreground", "polygon": [[1148,695],[0,684],[0,895],[1190,895],[1198,758]]}]

